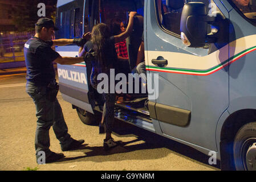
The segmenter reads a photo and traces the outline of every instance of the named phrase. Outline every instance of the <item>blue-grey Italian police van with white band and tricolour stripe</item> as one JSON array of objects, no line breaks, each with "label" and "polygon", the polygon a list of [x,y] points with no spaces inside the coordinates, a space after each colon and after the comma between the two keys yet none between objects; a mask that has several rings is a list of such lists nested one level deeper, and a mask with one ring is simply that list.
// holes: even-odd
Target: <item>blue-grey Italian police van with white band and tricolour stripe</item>
[{"label": "blue-grey Italian police van with white band and tricolour stripe", "polygon": [[[137,11],[127,39],[129,71],[144,34],[148,92],[116,103],[115,117],[186,144],[216,152],[222,169],[256,170],[255,0],[62,0],[59,38],[81,37],[97,23]],[[56,47],[78,56],[78,46]],[[86,124],[100,120],[91,65],[59,65],[60,92]],[[156,79],[155,79],[156,77]],[[151,97],[149,90],[155,97]],[[135,94],[136,95],[136,94]]]}]

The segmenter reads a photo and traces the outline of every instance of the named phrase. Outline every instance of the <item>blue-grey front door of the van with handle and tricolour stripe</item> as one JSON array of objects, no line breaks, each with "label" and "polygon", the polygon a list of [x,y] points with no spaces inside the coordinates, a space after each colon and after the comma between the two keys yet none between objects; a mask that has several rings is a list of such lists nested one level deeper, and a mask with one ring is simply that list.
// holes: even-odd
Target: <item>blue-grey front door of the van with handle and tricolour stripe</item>
[{"label": "blue-grey front door of the van with handle and tricolour stripe", "polygon": [[[180,37],[181,2],[173,0],[172,8],[165,0],[147,4],[146,67],[158,76],[159,85],[158,97],[150,100],[156,110],[154,122],[169,138],[217,151],[217,122],[229,106],[229,46],[226,42],[185,47]],[[229,18],[220,1],[199,2]]]}]

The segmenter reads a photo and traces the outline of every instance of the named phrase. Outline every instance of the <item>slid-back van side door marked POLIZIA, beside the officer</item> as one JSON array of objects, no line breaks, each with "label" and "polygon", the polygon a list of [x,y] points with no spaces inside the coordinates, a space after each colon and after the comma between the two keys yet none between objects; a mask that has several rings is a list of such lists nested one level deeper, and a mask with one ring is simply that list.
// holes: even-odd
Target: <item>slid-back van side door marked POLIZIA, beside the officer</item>
[{"label": "slid-back van side door marked POLIZIA, beside the officer", "polygon": [[[76,0],[58,1],[55,32],[56,39],[74,39],[82,37],[84,32],[92,30],[94,23],[99,23],[99,1]],[[79,47],[74,45],[55,48],[61,56],[77,57]],[[77,109],[83,121],[87,113],[94,114],[90,103],[90,65],[84,62],[74,65],[58,64],[60,93],[63,100],[70,102]],[[88,122],[90,119],[87,119]],[[87,123],[88,124],[88,123]]]}]

